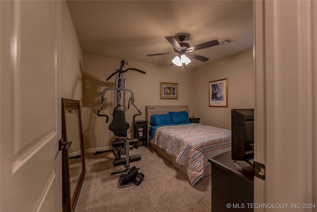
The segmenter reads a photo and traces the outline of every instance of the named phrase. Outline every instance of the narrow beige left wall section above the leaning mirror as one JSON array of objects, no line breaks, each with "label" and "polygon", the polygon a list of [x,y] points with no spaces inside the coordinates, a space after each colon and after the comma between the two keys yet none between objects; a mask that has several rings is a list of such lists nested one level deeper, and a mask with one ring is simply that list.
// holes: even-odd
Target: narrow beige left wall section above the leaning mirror
[{"label": "narrow beige left wall section above the leaning mirror", "polygon": [[66,1],[62,1],[62,98],[82,101],[81,51],[75,27],[70,17]]}]

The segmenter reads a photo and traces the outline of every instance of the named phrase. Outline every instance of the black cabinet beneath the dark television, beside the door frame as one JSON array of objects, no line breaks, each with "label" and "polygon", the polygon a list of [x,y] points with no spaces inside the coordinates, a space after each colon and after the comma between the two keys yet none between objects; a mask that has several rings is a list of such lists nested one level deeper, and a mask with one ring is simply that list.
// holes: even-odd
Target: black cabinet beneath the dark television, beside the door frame
[{"label": "black cabinet beneath the dark television, beside the door frame", "polygon": [[208,161],[211,162],[211,211],[253,212],[253,167],[246,161],[232,160],[231,151]]}]

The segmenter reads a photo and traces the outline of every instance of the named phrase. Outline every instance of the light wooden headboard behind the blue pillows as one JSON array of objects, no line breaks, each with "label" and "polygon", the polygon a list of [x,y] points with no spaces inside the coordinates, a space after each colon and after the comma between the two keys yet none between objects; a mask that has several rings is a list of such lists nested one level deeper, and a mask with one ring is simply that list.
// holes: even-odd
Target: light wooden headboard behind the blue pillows
[{"label": "light wooden headboard behind the blue pillows", "polygon": [[186,111],[189,115],[188,105],[147,105],[145,108],[146,120],[149,122],[149,127],[151,127],[151,116],[153,114],[167,114],[168,112],[180,112]]}]

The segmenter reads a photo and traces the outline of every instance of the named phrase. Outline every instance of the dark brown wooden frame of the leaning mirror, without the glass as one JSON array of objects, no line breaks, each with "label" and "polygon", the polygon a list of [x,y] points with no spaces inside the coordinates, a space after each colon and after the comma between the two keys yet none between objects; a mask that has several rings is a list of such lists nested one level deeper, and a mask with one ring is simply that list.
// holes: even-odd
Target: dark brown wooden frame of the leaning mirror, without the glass
[{"label": "dark brown wooden frame of the leaning mirror, without the glass", "polygon": [[75,206],[78,200],[79,192],[83,184],[85,173],[86,173],[85,149],[84,149],[84,140],[83,140],[82,118],[81,118],[81,105],[80,105],[80,101],[78,100],[65,99],[65,98],[61,99],[61,104],[62,104],[62,107],[61,107],[62,108],[62,138],[65,144],[69,142],[67,140],[67,126],[66,126],[66,119],[65,119],[65,110],[77,109],[78,119],[79,119],[78,128],[79,128],[79,134],[80,134],[80,154],[81,154],[82,170],[80,172],[80,176],[79,176],[79,179],[76,184],[72,197],[71,197],[71,190],[70,190],[68,149],[66,149],[66,145],[64,145],[62,149],[63,212],[74,212]]}]

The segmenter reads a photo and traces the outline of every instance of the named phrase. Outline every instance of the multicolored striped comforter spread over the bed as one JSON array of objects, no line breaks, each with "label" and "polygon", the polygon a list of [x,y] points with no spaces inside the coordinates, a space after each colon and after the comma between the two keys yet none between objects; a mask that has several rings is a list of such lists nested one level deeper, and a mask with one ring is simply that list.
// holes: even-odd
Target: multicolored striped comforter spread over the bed
[{"label": "multicolored striped comforter spread over the bed", "polygon": [[159,127],[152,143],[176,157],[195,185],[204,175],[208,159],[231,150],[231,130],[202,124]]}]

